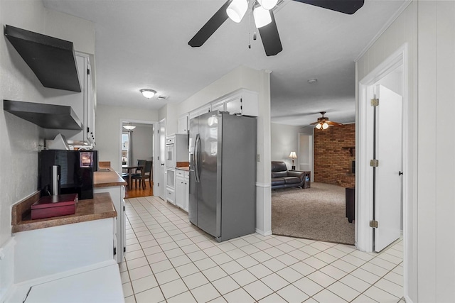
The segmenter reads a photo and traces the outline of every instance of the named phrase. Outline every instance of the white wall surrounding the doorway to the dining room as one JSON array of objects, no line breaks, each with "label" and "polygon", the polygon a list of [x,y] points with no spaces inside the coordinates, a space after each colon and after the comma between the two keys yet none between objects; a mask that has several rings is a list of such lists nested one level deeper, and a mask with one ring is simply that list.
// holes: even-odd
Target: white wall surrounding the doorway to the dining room
[{"label": "white wall surrounding the doorway to the dining room", "polygon": [[[127,106],[98,104],[95,121],[98,160],[110,161],[111,167],[120,172],[120,125],[125,121],[158,121],[158,111],[134,109]],[[133,139],[134,143],[134,139]],[[133,150],[134,158],[137,158]]]}]

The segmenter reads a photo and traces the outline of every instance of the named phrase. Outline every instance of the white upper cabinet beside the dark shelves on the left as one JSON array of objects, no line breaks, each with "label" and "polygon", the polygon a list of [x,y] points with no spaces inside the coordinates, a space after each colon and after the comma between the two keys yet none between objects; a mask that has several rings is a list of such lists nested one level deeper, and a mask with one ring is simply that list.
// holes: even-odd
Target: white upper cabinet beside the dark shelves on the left
[{"label": "white upper cabinet beside the dark shelves on the left", "polygon": [[45,129],[45,137],[53,139],[62,133],[68,143],[73,145],[90,145],[95,143],[95,95],[89,56],[75,53],[77,74],[81,92],[65,92],[58,97],[58,104],[71,106],[82,123],[82,131],[64,129]]}]

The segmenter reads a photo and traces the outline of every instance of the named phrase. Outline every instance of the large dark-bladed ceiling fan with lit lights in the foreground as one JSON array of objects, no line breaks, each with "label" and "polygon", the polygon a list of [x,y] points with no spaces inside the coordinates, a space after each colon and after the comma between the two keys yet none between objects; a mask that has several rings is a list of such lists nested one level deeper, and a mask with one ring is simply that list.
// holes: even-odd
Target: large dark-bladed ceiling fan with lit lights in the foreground
[{"label": "large dark-bladed ceiling fan with lit lights in the foreground", "polygon": [[[281,0],[282,1],[282,0]],[[364,0],[294,0],[323,9],[348,13],[352,15],[363,6]],[[188,42],[193,48],[202,46],[215,31],[230,18],[239,23],[248,9],[251,9],[255,26],[262,38],[265,54],[267,56],[277,55],[283,50],[282,42],[279,39],[277,23],[273,14],[274,7],[279,0],[228,0],[210,18],[207,23]],[[251,45],[249,46],[251,47]]]}]

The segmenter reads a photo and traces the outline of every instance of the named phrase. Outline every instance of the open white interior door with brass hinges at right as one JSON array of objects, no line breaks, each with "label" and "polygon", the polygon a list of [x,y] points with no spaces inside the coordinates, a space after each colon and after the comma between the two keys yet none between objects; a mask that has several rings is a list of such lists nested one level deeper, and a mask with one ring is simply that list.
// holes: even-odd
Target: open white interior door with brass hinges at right
[{"label": "open white interior door with brass hinges at right", "polygon": [[378,85],[375,123],[375,251],[400,238],[402,200],[402,97]]}]

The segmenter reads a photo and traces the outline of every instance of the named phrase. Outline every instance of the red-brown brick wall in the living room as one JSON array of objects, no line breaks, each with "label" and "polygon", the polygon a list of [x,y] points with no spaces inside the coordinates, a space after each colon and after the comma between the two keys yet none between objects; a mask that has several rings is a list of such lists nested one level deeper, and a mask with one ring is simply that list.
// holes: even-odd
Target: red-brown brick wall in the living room
[{"label": "red-brown brick wall in the living room", "polygon": [[[355,160],[355,123],[314,129],[314,181],[347,187],[346,176]],[[353,178],[355,180],[355,178]],[[349,186],[350,187],[350,186]]]}]

